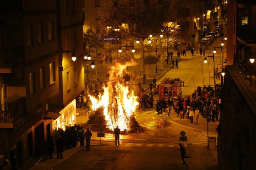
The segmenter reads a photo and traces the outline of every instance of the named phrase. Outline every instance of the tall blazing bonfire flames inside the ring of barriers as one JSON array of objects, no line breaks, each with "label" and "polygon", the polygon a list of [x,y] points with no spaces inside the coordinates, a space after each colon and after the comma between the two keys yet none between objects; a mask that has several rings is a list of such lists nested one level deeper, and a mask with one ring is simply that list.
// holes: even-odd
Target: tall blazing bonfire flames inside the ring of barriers
[{"label": "tall blazing bonfire flames inside the ring of barriers", "polygon": [[134,65],[135,62],[116,63],[108,72],[109,78],[102,87],[103,93],[98,97],[89,95],[94,111],[103,108],[106,125],[119,126],[121,130],[130,127],[131,121],[134,120],[134,111],[139,104],[138,97],[134,95],[133,90],[129,90],[124,81],[127,67]]}]

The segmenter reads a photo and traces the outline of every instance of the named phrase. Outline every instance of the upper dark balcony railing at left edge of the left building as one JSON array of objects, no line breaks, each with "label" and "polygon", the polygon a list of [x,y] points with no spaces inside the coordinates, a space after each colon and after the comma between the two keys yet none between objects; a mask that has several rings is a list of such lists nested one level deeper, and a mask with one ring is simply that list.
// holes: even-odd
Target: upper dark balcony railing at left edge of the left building
[{"label": "upper dark balcony railing at left edge of the left building", "polygon": [[0,49],[0,67],[12,67],[23,64],[24,58],[24,47],[18,47],[14,49]]}]

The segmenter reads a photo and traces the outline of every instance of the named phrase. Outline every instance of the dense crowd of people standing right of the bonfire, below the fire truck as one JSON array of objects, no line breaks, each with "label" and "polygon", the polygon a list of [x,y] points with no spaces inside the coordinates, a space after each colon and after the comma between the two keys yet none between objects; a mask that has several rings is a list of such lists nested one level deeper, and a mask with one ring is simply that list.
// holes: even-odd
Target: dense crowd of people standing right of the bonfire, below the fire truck
[{"label": "dense crowd of people standing right of the bonfire, below the fire truck", "polygon": [[173,109],[177,117],[189,119],[190,123],[195,124],[198,123],[199,115],[206,117],[206,113],[209,113],[210,119],[214,122],[214,120],[218,121],[220,102],[220,85],[216,85],[215,93],[213,87],[198,86],[192,93],[192,97],[190,95],[182,97],[181,94],[172,97],[165,94],[163,99],[156,100],[156,112],[159,115],[167,111],[170,117],[171,109]]}]

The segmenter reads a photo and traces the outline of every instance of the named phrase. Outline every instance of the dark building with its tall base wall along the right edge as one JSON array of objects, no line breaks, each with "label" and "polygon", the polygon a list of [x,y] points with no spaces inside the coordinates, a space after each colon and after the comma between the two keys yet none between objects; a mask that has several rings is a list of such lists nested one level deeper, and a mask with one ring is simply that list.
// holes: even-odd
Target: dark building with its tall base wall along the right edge
[{"label": "dark building with its tall base wall along the right edge", "polygon": [[218,128],[218,168],[256,169],[256,2],[227,3],[227,65]]}]

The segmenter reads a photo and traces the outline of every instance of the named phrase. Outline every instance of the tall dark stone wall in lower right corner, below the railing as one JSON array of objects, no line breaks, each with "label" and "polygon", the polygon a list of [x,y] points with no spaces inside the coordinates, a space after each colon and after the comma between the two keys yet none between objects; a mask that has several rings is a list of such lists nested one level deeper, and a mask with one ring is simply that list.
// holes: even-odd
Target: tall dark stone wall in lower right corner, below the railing
[{"label": "tall dark stone wall in lower right corner, below the railing", "polygon": [[226,66],[220,130],[220,170],[256,170],[255,87],[249,87],[236,66]]}]

